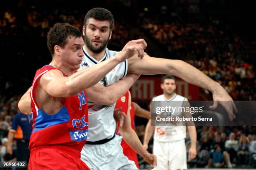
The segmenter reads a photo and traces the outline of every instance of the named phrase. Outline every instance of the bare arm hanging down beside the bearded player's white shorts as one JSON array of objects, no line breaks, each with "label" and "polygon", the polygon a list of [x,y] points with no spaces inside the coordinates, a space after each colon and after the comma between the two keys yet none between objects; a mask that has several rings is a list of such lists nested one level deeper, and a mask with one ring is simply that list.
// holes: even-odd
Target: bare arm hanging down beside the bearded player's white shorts
[{"label": "bare arm hanging down beside the bearded player's white shorts", "polygon": [[[129,93],[129,102],[128,108],[131,107],[131,94]],[[125,142],[135,150],[139,155],[143,157],[143,159],[151,164],[151,167],[156,166],[156,156],[148,153],[143,148],[141,141],[139,140],[136,132],[131,127],[131,116],[130,116],[130,109],[128,109],[126,118],[124,119],[123,126],[120,127],[120,134],[122,135]]]}]

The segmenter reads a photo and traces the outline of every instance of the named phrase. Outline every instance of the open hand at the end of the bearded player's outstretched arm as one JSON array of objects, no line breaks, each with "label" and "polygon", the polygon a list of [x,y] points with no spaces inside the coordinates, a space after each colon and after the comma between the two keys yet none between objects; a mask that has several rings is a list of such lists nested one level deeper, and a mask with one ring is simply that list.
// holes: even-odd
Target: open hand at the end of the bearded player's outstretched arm
[{"label": "open hand at the end of the bearded player's outstretched arm", "polygon": [[210,106],[210,109],[216,109],[218,106],[218,103],[220,103],[225,110],[228,112],[228,117],[230,121],[236,118],[235,113],[237,113],[236,105],[233,101],[233,99],[228,95],[228,93],[223,89],[222,86],[217,86],[214,91],[212,91],[212,97],[214,100],[214,103],[212,106]]}]

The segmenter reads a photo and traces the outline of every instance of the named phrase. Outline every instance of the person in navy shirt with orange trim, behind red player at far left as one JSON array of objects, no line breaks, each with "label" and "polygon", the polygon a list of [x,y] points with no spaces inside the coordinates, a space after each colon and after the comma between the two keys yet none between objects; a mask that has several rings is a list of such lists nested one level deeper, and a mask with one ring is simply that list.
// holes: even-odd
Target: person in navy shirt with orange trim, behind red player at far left
[{"label": "person in navy shirt with orange trim, behind red player at far left", "polygon": [[11,144],[13,142],[13,138],[15,138],[17,141],[17,161],[28,162],[29,159],[30,151],[28,150],[28,145],[32,131],[32,126],[29,120],[30,116],[28,114],[16,114],[13,117],[12,127],[8,133],[7,152],[12,155],[13,148]]}]

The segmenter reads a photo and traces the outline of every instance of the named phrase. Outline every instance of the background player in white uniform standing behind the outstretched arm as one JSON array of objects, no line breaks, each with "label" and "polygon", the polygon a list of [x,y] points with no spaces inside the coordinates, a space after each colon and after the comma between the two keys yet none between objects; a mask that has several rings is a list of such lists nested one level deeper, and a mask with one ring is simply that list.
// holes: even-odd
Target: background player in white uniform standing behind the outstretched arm
[{"label": "background player in white uniform standing behind the outstretched arm", "polygon": [[[183,107],[182,101],[187,100],[187,98],[175,93],[174,76],[164,76],[161,89],[163,89],[164,94],[154,97],[152,101],[180,101],[175,102],[175,106],[179,104],[177,107]],[[181,113],[176,114],[180,115]],[[145,149],[148,148],[148,142],[154,132],[153,153],[157,156],[156,170],[187,170],[187,154],[184,140],[186,138],[186,126],[179,125],[179,122],[176,123],[177,125],[151,126],[150,120],[146,126],[143,145]],[[187,129],[191,140],[189,159],[192,160],[197,155],[197,133],[195,126],[187,126]]]}]

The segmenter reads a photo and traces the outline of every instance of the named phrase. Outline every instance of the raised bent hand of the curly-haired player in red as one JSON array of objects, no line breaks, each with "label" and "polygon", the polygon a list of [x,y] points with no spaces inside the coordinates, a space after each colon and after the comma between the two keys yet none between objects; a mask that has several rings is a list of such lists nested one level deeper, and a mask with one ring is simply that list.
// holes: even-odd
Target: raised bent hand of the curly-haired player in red
[{"label": "raised bent hand of the curly-haired player in red", "polygon": [[146,49],[147,43],[144,39],[132,40],[129,41],[123,47],[123,50],[118,54],[118,59],[122,62],[128,58],[131,58],[136,53],[138,53],[138,57],[143,58],[145,53],[144,49]]}]

